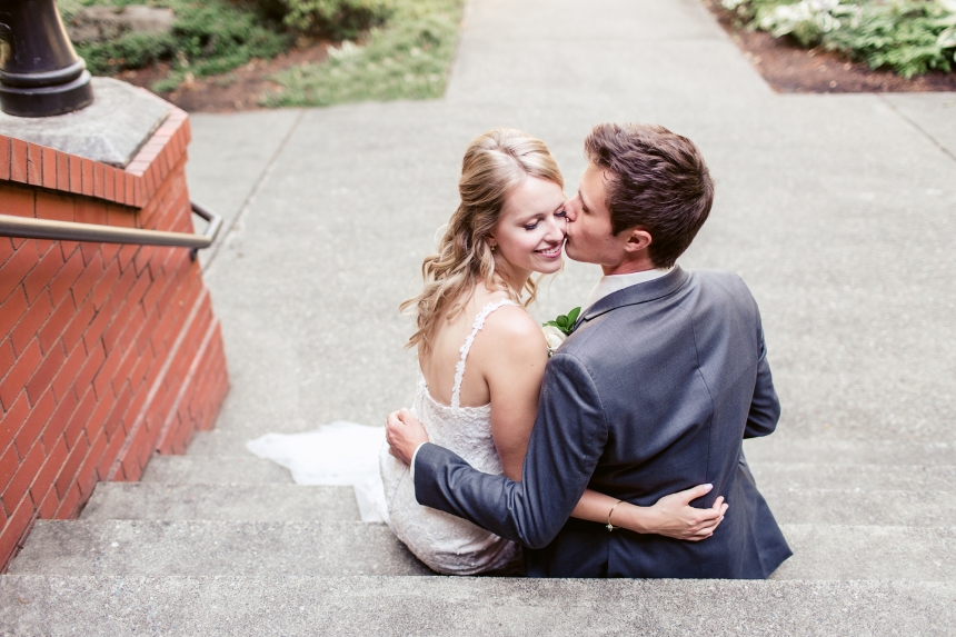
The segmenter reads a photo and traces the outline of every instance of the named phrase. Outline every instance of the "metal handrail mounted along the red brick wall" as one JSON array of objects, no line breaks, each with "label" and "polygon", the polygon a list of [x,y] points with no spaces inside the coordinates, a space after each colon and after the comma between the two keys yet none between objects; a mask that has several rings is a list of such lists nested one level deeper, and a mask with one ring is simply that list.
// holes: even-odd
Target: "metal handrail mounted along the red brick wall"
[{"label": "metal handrail mounted along the red brick wall", "polygon": [[196,260],[199,250],[208,248],[219,235],[222,217],[208,208],[191,201],[192,211],[209,221],[206,232],[167,232],[163,230],[142,230],[120,228],[99,223],[76,223],[73,221],[51,221],[32,217],[0,215],[0,237],[17,239],[48,239],[52,241],[92,241],[97,243],[136,243],[140,246],[172,246],[190,248],[189,257]]}]

